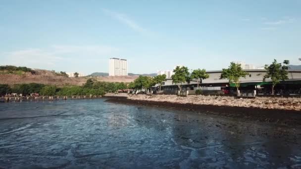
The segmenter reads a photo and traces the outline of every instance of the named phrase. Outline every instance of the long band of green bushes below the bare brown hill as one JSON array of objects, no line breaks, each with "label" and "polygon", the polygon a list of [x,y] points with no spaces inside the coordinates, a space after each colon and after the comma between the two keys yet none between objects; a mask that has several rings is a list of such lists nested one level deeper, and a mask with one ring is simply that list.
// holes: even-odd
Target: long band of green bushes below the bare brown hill
[{"label": "long band of green bushes below the bare brown hill", "polygon": [[[7,98],[13,98],[15,101],[20,99],[53,99],[53,98],[98,98],[108,92],[124,90],[127,85],[124,83],[107,83],[94,82],[87,80],[83,86],[64,86],[56,87],[55,85],[44,84],[15,84],[9,86],[0,84],[0,96],[2,101]],[[6,98],[6,99],[5,99]]]}]

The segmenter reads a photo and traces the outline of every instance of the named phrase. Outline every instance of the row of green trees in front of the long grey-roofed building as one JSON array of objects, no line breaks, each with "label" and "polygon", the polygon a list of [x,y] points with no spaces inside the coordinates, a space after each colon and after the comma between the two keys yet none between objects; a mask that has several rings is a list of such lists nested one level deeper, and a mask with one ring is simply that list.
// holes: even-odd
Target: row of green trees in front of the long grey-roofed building
[{"label": "row of green trees in front of the long grey-roofed building", "polygon": [[[271,79],[272,94],[274,94],[275,85],[279,84],[280,81],[289,79],[287,72],[287,70],[289,69],[288,65],[288,60],[284,60],[283,63],[278,63],[275,59],[270,65],[265,65],[266,74],[263,77],[262,81],[265,82],[266,79]],[[173,73],[174,75],[171,76],[171,79],[172,82],[178,86],[179,91],[182,91],[182,84],[190,84],[192,80],[197,81],[197,86],[199,89],[202,80],[209,78],[209,74],[206,73],[205,69],[196,69],[190,73],[188,67],[185,66],[177,66],[173,70]],[[228,79],[229,84],[235,84],[238,92],[241,84],[241,78],[246,78],[247,75],[249,75],[249,73],[242,69],[241,64],[231,62],[228,68],[222,69],[222,73],[219,78]],[[163,84],[165,79],[166,75],[158,75],[154,78],[139,76],[138,79],[129,84],[129,88],[135,90],[148,90],[151,88],[151,86],[158,84],[159,90],[161,90],[161,85]]]}]

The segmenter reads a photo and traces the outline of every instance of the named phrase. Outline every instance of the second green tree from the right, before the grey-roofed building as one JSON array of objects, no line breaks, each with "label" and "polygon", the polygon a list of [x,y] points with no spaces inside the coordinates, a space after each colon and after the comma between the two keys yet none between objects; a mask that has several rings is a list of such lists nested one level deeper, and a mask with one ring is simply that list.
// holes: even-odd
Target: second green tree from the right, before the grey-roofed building
[{"label": "second green tree from the right, before the grey-roofed building", "polygon": [[229,83],[234,83],[237,93],[241,84],[240,78],[246,78],[248,72],[243,71],[241,64],[231,62],[228,69],[223,69],[220,79],[228,79]]}]

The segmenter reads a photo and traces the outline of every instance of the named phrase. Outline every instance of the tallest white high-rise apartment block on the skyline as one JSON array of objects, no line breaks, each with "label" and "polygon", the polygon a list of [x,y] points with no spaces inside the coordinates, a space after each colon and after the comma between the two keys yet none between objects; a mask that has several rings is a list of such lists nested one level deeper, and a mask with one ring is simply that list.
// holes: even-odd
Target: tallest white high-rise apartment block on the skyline
[{"label": "tallest white high-rise apartment block on the skyline", "polygon": [[109,59],[109,76],[128,76],[128,63],[126,59]]}]

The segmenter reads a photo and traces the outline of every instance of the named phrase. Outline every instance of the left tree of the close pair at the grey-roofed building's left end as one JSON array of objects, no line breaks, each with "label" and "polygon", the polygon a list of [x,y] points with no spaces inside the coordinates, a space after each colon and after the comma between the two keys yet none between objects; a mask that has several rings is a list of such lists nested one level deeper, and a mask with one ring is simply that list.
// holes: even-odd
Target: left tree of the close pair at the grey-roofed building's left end
[{"label": "left tree of the close pair at the grey-roofed building's left end", "polygon": [[179,90],[182,91],[182,84],[190,81],[190,73],[188,68],[185,66],[177,66],[173,72],[174,75],[171,76],[172,82],[177,84]]}]

